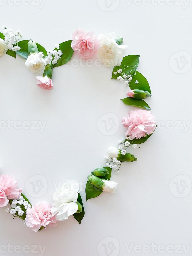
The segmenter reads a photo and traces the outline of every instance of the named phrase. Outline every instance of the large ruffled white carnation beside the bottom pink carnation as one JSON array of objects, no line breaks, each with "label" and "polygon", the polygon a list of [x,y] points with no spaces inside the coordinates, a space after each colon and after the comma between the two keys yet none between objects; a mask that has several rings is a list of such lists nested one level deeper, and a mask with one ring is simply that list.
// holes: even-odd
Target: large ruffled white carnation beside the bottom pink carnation
[{"label": "large ruffled white carnation beside the bottom pink carnation", "polygon": [[62,184],[61,188],[53,194],[53,208],[51,213],[56,220],[63,221],[78,210],[77,197],[79,192],[79,183],[67,182]]}]

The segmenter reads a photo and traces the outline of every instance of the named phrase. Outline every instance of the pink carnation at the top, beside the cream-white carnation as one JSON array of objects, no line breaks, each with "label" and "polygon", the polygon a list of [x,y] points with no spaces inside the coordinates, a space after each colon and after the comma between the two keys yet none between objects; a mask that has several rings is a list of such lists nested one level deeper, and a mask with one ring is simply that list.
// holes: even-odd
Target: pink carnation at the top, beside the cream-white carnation
[{"label": "pink carnation at the top, beside the cream-white carnation", "polygon": [[81,28],[73,32],[72,39],[71,48],[79,52],[82,59],[88,59],[94,55],[100,45],[94,32],[84,31]]}]

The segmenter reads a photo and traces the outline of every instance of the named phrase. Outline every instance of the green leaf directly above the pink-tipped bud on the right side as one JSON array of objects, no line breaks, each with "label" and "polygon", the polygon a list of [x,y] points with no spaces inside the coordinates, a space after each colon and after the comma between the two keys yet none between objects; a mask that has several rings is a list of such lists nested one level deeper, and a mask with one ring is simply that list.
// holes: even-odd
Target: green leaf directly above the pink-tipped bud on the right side
[{"label": "green leaf directly above the pink-tipped bud on the right side", "polygon": [[[132,78],[133,79],[129,83],[129,87],[131,88],[131,90],[139,89],[139,90],[148,91],[149,93],[151,93],[149,83],[141,73],[136,71],[136,74],[133,75]],[[136,80],[139,82],[138,84],[135,84]]]}]

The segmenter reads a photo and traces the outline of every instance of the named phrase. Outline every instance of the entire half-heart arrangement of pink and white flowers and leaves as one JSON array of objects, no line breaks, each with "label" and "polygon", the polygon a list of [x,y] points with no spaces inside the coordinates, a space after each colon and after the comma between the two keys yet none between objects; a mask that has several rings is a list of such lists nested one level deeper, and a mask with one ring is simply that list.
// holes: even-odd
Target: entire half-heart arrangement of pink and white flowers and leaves
[{"label": "entire half-heart arrangement of pink and white flowers and leaves", "polygon": [[[21,32],[15,33],[3,26],[0,33],[0,57],[4,54],[16,58],[19,55],[26,59],[28,71],[36,75],[37,86],[45,90],[53,89],[52,75],[55,67],[66,64],[77,52],[81,59],[89,59],[97,54],[103,66],[113,68],[111,79],[125,83],[131,90],[121,101],[134,106],[129,116],[122,118],[122,125],[126,127],[125,136],[118,141],[117,147],[109,147],[105,156],[105,167],[96,168],[88,175],[86,184],[86,201],[99,196],[103,191],[114,194],[118,183],[111,181],[112,170],[119,172],[125,162],[137,161],[137,158],[127,152],[129,147],[139,148],[148,140],[156,128],[155,116],[150,112],[146,101],[151,97],[151,90],[147,79],[137,71],[140,55],[128,55],[123,38],[115,33],[96,35],[94,32],[77,29],[72,33],[72,40],[55,44],[54,50],[45,50],[43,46],[33,40],[21,40]],[[142,108],[142,109],[141,109]],[[34,205],[17,188],[17,182],[10,175],[0,176],[0,207],[6,207],[13,218],[20,218],[28,228],[37,232],[49,226],[55,226],[58,221],[64,221],[69,216],[81,223],[85,211],[80,196],[80,185],[69,181],[61,185],[53,195],[53,204],[40,201]],[[10,208],[7,207],[8,204]]]}]

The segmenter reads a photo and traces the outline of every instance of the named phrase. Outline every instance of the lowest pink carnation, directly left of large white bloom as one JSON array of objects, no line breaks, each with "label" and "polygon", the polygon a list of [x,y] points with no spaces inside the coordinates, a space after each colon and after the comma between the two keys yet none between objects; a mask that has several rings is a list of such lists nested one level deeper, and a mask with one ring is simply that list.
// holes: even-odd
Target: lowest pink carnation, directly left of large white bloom
[{"label": "lowest pink carnation, directly left of large white bloom", "polygon": [[25,222],[28,228],[31,228],[34,232],[37,232],[41,226],[44,228],[49,224],[55,226],[57,220],[55,216],[51,214],[51,207],[49,202],[38,202],[31,208],[26,210]]}]

